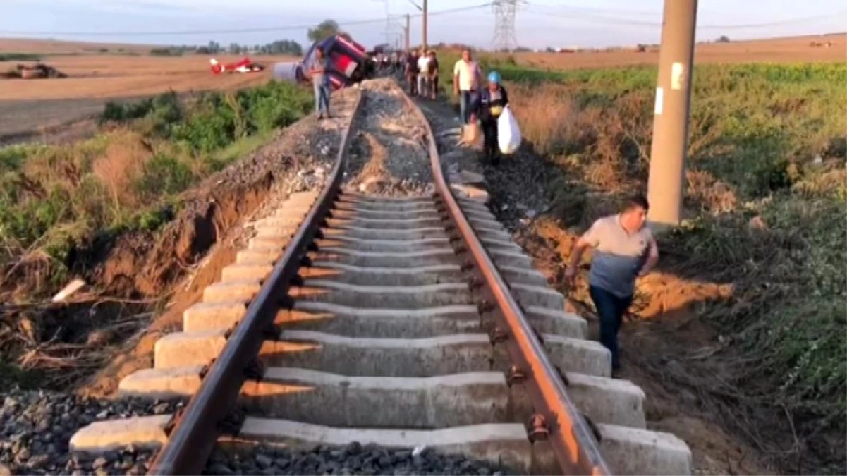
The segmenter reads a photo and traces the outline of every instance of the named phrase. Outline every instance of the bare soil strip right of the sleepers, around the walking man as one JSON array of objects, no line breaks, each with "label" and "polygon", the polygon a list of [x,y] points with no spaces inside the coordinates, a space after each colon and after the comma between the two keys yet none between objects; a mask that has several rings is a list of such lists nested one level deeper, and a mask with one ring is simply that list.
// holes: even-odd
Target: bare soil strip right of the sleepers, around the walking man
[{"label": "bare soil strip right of the sleepers, around the walking man", "polygon": [[[585,283],[576,289],[565,287],[562,276],[570,247],[578,230],[558,219],[561,203],[547,202],[543,189],[549,165],[542,158],[521,151],[504,158],[498,167],[479,162],[479,152],[457,145],[456,112],[445,102],[424,102],[424,112],[433,124],[446,167],[481,171],[490,193],[490,208],[503,222],[518,244],[534,257],[534,263],[552,280],[557,291],[567,296],[567,306],[589,319],[590,333],[596,338],[595,314],[587,299]],[[586,207],[579,205],[579,214]],[[600,217],[612,211],[609,204],[588,204],[590,214]],[[573,214],[573,213],[572,213]],[[579,220],[577,220],[579,221]],[[624,326],[621,346],[624,379],[632,380],[647,395],[648,428],[676,434],[690,447],[695,474],[766,475],[773,474],[763,463],[761,453],[752,449],[739,434],[728,431],[710,406],[692,391],[679,393],[678,386],[668,385],[661,372],[685,372],[692,348],[708,357],[720,339],[692,313],[692,307],[707,300],[728,296],[726,285],[713,285],[682,280],[673,274],[656,272],[639,282],[639,296]],[[686,352],[684,352],[684,350]],[[626,363],[629,365],[626,365]],[[726,362],[725,365],[732,365]],[[657,373],[656,370],[659,370]]]}]

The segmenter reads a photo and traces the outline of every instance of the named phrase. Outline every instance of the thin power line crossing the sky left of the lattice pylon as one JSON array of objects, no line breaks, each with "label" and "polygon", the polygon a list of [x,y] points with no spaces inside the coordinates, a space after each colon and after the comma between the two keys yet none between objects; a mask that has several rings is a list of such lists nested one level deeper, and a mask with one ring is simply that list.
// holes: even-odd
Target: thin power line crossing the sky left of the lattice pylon
[{"label": "thin power line crossing the sky left of the lattice pylon", "polygon": [[[482,3],[478,5],[471,5],[468,7],[459,7],[459,8],[450,8],[446,10],[439,10],[435,12],[429,12],[429,16],[433,15],[444,15],[444,14],[457,14],[472,10],[477,10],[479,8],[489,8],[491,3]],[[420,17],[422,14],[412,14],[413,17]],[[340,23],[340,27],[349,27],[355,25],[374,25],[378,23],[385,23],[385,17],[379,19],[361,19],[348,21],[344,23]],[[170,31],[19,31],[19,30],[3,30],[0,31],[0,35],[39,35],[39,36],[165,36],[165,35],[225,35],[225,34],[234,34],[234,33],[264,33],[264,32],[274,32],[274,31],[286,31],[286,30],[306,30],[309,28],[314,28],[316,24],[308,24],[308,25],[280,25],[280,26],[268,26],[262,28],[241,28],[237,30],[170,30]]]}]

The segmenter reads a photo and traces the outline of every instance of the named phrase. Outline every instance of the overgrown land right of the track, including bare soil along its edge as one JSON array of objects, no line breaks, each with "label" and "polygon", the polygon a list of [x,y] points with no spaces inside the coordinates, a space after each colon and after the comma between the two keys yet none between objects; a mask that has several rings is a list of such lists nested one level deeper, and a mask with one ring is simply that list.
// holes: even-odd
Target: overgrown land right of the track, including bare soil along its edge
[{"label": "overgrown land right of the track, including bare soil along its edge", "polygon": [[[656,66],[481,59],[501,71],[525,145],[491,180],[510,209],[547,210],[531,225],[543,245],[528,243],[540,257],[554,248],[555,273],[576,233],[645,188]],[[776,472],[836,474],[847,462],[845,107],[844,63],[695,66],[685,220],[660,236],[662,264],[639,282],[639,322],[623,339],[628,378],[657,382]],[[592,313],[586,288],[569,296]],[[671,420],[653,424],[712,444]]]}]

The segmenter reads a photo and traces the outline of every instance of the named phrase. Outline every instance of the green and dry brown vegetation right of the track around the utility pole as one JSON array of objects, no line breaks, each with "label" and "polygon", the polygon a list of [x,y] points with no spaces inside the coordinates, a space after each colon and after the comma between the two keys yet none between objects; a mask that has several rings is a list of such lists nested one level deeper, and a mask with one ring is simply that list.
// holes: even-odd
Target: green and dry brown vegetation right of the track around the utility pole
[{"label": "green and dry brown vegetation right of the track around the utility pole", "polygon": [[[597,218],[589,192],[645,186],[655,68],[485,66],[551,166],[556,218],[582,228]],[[697,66],[687,218],[662,237],[668,271],[734,286],[703,315],[750,359],[733,369],[736,407],[800,417],[800,436],[847,428],[845,79],[847,64]]]}]

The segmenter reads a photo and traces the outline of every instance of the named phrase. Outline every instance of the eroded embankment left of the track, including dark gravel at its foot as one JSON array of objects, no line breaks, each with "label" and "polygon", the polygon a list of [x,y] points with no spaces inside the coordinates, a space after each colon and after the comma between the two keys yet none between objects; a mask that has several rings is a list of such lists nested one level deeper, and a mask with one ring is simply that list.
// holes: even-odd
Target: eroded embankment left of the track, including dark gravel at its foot
[{"label": "eroded embankment left of the track, including dark gravel at its foot", "polygon": [[[76,388],[79,396],[69,391],[3,388],[0,473],[9,468],[22,473],[55,474],[105,471],[104,468],[121,473],[144,472],[149,452],[115,451],[99,458],[72,456],[68,452],[69,438],[86,423],[173,412],[181,405],[180,401],[117,401],[110,397],[119,379],[150,366],[158,336],[180,326],[182,311],[197,301],[206,285],[219,280],[221,269],[234,261],[235,251],[255,234],[243,226],[246,221],[273,213],[292,192],[323,185],[337,153],[340,132],[350,119],[355,92],[335,95],[338,119],[318,124],[314,119],[304,119],[280,131],[250,157],[187,192],[183,196],[185,206],[160,234],[124,235],[108,248],[86,257],[96,264],[86,269],[83,276],[97,292],[74,295],[77,302],[73,306],[63,304],[10,314],[23,325],[58,329],[71,325],[67,319],[57,322],[58,316],[75,318],[70,322],[76,328],[65,336],[80,343],[44,348],[72,351],[64,357],[63,367],[57,369],[68,374],[63,380],[64,389],[70,390],[80,379],[85,380]],[[109,299],[103,297],[104,293],[140,299]],[[104,301],[122,301],[119,312],[101,315],[105,313]],[[136,306],[127,309],[128,302]],[[165,306],[160,315],[154,313]],[[70,310],[77,314],[69,316]],[[126,316],[127,311],[134,314]],[[47,361],[50,363],[56,368],[57,359]],[[105,368],[101,368],[104,363]],[[92,375],[93,372],[96,373]]]}]

